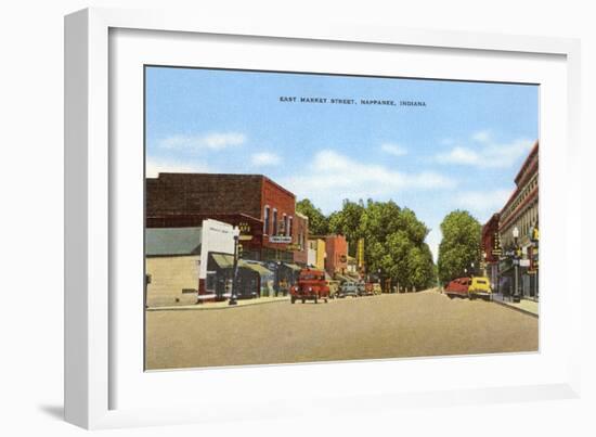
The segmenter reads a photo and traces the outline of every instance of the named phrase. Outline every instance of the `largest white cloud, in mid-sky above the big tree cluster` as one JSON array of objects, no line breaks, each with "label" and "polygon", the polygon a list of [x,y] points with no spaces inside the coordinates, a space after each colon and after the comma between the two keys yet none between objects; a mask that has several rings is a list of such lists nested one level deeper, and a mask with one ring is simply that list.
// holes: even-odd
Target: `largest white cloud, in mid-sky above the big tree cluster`
[{"label": "largest white cloud, in mid-sky above the big tree cluster", "polygon": [[341,207],[341,201],[387,200],[403,190],[443,190],[455,181],[432,171],[406,173],[383,165],[351,159],[336,151],[323,150],[313,162],[295,176],[281,181],[299,198],[309,197],[323,211]]}]

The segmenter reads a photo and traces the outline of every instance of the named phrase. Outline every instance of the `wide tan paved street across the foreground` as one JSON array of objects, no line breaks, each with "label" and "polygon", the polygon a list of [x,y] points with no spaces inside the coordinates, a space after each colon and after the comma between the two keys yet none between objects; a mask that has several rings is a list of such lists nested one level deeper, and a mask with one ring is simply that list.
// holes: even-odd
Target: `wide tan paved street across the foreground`
[{"label": "wide tan paved street across the foreground", "polygon": [[537,350],[539,319],[435,291],[147,311],[147,369]]}]

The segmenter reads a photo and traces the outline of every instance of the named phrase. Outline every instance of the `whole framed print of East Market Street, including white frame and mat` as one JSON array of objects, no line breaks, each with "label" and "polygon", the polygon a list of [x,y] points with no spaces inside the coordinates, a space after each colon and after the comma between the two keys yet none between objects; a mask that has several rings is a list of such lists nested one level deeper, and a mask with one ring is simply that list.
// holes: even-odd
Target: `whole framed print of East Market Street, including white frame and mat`
[{"label": "whole framed print of East Market Street, including white frame and mat", "polygon": [[575,396],[578,47],[470,41],[67,16],[67,420]]}]

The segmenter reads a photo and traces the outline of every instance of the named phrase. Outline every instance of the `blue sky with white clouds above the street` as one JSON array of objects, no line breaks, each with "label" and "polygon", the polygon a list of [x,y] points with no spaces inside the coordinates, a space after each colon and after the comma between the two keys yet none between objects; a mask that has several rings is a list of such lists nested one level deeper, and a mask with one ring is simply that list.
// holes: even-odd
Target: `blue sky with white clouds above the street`
[{"label": "blue sky with white clouds above the street", "polygon": [[325,214],[344,198],[391,198],[431,229],[437,255],[448,213],[485,222],[513,192],[537,99],[527,85],[147,67],[147,176],[262,173]]}]

